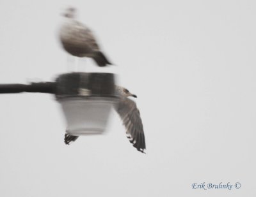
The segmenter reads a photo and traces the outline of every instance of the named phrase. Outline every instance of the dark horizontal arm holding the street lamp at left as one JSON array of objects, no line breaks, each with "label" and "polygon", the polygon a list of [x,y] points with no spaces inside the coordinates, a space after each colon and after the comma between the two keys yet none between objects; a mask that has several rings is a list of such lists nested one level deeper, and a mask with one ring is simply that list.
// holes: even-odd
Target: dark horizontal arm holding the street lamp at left
[{"label": "dark horizontal arm holding the street lamp at left", "polygon": [[39,82],[32,84],[0,84],[0,94],[13,94],[20,92],[40,92],[55,94],[56,82]]}]

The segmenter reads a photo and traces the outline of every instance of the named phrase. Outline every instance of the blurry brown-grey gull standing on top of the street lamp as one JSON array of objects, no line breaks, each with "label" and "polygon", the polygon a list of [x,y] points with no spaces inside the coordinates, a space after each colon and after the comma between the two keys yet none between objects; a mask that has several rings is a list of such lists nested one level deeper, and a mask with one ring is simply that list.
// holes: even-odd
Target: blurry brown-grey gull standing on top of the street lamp
[{"label": "blurry brown-grey gull standing on top of the street lamp", "polygon": [[106,56],[100,51],[99,45],[88,27],[75,20],[76,9],[67,8],[65,23],[60,29],[60,40],[65,50],[77,57],[92,57],[98,66],[111,64]]}]

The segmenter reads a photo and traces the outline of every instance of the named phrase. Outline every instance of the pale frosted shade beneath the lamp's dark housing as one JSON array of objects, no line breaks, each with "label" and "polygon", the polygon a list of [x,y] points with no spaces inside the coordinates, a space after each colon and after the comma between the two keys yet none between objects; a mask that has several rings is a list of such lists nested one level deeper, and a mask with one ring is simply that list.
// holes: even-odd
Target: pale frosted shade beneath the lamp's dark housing
[{"label": "pale frosted shade beneath the lamp's dark housing", "polygon": [[115,101],[109,98],[72,99],[60,102],[70,135],[102,134]]}]

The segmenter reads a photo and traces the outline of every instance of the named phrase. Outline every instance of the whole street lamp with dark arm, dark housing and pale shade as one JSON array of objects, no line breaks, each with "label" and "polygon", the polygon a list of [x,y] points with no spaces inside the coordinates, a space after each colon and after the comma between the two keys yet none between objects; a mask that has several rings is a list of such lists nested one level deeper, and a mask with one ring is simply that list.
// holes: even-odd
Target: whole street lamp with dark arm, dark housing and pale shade
[{"label": "whole street lamp with dark arm, dark housing and pale shade", "polygon": [[61,104],[67,133],[74,136],[103,133],[109,112],[118,101],[113,73],[65,73],[55,82],[0,85],[0,94],[20,92],[54,94]]}]

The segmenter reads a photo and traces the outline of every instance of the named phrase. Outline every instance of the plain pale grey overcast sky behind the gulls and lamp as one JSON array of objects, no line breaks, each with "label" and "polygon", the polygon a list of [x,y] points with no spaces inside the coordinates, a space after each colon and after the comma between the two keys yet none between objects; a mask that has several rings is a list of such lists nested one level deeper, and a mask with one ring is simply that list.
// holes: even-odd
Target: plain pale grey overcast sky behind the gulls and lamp
[{"label": "plain pale grey overcast sky behind the gulls and lamp", "polygon": [[[0,83],[67,71],[61,11],[76,6],[136,94],[147,154],[108,132],[67,146],[51,95],[0,96],[1,196],[255,196],[255,1],[0,1]],[[192,189],[241,183],[241,188]],[[234,186],[233,186],[234,187]]]}]

